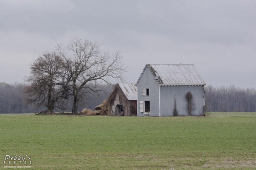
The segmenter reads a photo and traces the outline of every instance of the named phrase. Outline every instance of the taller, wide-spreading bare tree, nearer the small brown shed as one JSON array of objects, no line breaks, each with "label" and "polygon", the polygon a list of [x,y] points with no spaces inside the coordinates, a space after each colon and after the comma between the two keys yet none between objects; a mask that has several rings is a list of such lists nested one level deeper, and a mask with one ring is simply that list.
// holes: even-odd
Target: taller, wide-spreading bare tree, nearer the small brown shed
[{"label": "taller, wide-spreading bare tree, nearer the small brown shed", "polygon": [[101,52],[97,42],[73,39],[65,47],[58,44],[56,50],[65,60],[67,81],[72,86],[69,96],[73,98],[72,113],[90,91],[98,93],[99,83],[112,84],[113,79],[123,80],[126,68],[120,52]]}]

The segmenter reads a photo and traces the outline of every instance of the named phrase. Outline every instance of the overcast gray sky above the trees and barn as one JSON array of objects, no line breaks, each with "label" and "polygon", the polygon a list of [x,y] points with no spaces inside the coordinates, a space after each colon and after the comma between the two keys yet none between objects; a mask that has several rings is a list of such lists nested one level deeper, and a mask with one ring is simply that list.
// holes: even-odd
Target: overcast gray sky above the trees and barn
[{"label": "overcast gray sky above the trees and barn", "polygon": [[256,87],[256,1],[0,1],[0,82],[24,82],[39,55],[70,39],[145,64],[195,64],[206,84]]}]

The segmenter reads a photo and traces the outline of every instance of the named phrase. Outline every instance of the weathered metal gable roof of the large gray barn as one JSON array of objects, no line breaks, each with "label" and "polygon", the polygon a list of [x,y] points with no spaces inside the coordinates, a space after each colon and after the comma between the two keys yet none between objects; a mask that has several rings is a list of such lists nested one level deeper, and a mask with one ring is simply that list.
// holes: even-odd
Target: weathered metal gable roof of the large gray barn
[{"label": "weathered metal gable roof of the large gray barn", "polygon": [[156,81],[162,86],[199,86],[206,84],[198,74],[194,64],[146,64],[137,83],[146,67],[150,69]]}]

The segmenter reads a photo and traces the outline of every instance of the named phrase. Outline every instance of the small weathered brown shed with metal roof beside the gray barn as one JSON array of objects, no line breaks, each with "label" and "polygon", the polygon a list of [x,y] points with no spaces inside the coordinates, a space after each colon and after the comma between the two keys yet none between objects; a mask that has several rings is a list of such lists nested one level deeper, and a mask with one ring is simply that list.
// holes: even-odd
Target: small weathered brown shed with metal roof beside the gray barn
[{"label": "small weathered brown shed with metal roof beside the gray barn", "polygon": [[137,86],[136,83],[118,83],[106,100],[108,115],[133,116],[137,115]]}]

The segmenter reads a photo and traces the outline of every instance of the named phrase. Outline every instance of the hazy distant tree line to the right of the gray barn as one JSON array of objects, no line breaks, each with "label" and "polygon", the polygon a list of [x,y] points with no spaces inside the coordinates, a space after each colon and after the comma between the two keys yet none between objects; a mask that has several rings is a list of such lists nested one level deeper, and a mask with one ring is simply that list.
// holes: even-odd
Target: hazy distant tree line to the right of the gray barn
[{"label": "hazy distant tree line to the right of the gray barn", "polygon": [[207,111],[256,112],[256,89],[209,85],[205,87],[205,107]]}]

